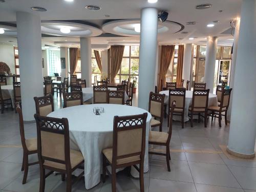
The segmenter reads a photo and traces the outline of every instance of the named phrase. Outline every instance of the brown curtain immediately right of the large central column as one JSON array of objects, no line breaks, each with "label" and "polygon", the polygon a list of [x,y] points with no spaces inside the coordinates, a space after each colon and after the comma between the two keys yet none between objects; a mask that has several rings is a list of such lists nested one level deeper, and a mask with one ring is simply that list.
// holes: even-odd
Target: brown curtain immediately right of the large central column
[{"label": "brown curtain immediately right of the large central column", "polygon": [[163,84],[165,84],[165,75],[168,71],[170,61],[172,60],[174,54],[175,46],[161,46],[161,62],[160,62],[160,73],[159,73],[159,85],[158,90],[163,89]]}]

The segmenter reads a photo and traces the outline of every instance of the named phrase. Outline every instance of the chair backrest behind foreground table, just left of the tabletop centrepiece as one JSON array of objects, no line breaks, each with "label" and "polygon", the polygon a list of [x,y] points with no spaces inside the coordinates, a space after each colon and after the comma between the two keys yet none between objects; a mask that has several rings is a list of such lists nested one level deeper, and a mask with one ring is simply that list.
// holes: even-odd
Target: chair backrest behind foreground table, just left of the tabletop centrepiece
[{"label": "chair backrest behind foreground table, just left of the tabletop centrepiece", "polygon": [[82,105],[83,98],[82,92],[64,93],[63,94],[63,108],[68,108],[69,106]]}]

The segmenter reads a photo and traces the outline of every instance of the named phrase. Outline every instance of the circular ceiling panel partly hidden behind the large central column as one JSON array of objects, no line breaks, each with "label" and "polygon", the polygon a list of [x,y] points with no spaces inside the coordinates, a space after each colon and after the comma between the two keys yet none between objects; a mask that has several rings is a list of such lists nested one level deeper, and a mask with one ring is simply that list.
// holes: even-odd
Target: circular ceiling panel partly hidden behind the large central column
[{"label": "circular ceiling panel partly hidden behind the large central column", "polygon": [[[121,19],[105,23],[102,26],[103,31],[122,36],[138,36],[140,32],[135,29],[140,25],[140,19]],[[158,22],[158,33],[177,33],[184,29],[184,26],[166,20],[164,23]]]}]

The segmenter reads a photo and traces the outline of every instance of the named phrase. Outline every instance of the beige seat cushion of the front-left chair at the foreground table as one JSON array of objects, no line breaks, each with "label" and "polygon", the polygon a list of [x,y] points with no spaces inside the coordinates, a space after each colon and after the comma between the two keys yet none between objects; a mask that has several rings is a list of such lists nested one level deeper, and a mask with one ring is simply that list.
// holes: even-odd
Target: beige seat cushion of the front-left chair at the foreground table
[{"label": "beige seat cushion of the front-left chair at the foreground table", "polygon": [[[80,164],[84,160],[82,153],[76,150],[70,150],[70,163],[71,168],[74,168],[76,165]],[[45,160],[44,165],[59,168],[62,170],[66,170],[66,165],[61,163],[56,163],[53,161],[47,161]]]}]

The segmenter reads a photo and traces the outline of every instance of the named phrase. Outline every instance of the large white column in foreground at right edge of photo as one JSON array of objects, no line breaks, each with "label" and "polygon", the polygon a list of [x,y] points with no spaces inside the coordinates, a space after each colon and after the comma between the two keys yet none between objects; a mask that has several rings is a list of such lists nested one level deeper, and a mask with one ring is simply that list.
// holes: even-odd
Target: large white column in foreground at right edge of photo
[{"label": "large white column in foreground at right edge of photo", "polygon": [[242,1],[228,141],[228,151],[244,157],[254,156],[256,137],[255,6],[254,0]]}]

